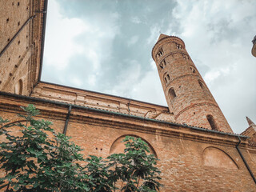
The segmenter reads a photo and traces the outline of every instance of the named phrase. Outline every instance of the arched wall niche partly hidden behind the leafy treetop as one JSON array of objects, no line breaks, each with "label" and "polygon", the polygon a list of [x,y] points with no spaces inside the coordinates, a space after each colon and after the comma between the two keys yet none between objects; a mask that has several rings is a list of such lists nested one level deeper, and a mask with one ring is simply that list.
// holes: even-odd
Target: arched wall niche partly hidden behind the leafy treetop
[{"label": "arched wall niche partly hidden behind the leafy treetop", "polygon": [[[126,138],[126,136],[132,136],[134,138],[141,138],[141,137],[138,137],[137,135],[133,135],[133,134],[127,134],[127,135],[122,135],[121,137],[117,138],[111,145],[110,147],[110,154],[119,154],[119,153],[123,153],[124,149],[126,148],[125,146],[125,142],[122,142],[122,140],[124,138]],[[154,157],[158,158],[157,154],[155,153],[155,150],[154,148],[150,145],[149,142],[147,142],[144,138],[142,138],[142,140],[144,142],[147,143],[147,145],[149,146],[150,148],[150,154],[154,154]]]}]

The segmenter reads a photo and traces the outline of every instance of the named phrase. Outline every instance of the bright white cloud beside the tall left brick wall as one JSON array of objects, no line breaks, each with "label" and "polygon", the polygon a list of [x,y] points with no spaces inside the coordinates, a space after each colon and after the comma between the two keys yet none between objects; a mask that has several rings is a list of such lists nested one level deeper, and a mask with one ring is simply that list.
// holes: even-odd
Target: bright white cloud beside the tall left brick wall
[{"label": "bright white cloud beside the tall left brick wall", "polygon": [[[48,7],[44,67],[64,70],[72,65],[70,59],[79,54],[86,58],[85,66],[93,66],[93,72],[98,71],[102,61],[110,58],[112,40],[118,34],[115,24],[118,14],[100,15],[96,20],[69,18],[62,14],[56,0],[50,1]],[[106,45],[109,49],[105,49]]]}]

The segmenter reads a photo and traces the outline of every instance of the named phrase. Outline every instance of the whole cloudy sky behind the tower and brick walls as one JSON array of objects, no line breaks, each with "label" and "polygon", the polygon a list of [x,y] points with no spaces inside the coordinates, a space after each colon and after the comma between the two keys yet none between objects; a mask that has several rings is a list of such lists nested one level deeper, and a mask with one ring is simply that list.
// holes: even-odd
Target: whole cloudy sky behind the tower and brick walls
[{"label": "whole cloudy sky behind the tower and brick walls", "polygon": [[256,123],[254,0],[50,0],[42,81],[166,105],[151,50],[186,44],[235,133]]}]

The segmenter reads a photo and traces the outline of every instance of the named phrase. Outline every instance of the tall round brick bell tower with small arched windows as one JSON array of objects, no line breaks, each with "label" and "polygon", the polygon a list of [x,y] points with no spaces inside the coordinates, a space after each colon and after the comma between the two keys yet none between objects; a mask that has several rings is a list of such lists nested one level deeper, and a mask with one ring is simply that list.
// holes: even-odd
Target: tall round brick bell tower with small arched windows
[{"label": "tall round brick bell tower with small arched windows", "polygon": [[233,133],[182,39],[160,34],[152,57],[176,122]]}]

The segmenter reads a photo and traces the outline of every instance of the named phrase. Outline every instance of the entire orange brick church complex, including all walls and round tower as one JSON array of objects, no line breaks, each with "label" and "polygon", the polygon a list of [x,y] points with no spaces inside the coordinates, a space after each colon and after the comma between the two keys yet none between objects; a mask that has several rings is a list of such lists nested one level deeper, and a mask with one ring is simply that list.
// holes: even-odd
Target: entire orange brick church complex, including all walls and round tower
[{"label": "entire orange brick church complex, including all walls and round tower", "polygon": [[[161,34],[152,50],[168,107],[41,82],[44,5],[40,0],[0,0],[0,51],[9,45],[0,57],[2,118],[18,120],[20,106],[32,103],[41,111],[38,118],[54,122],[54,130],[62,133],[72,105],[66,135],[85,156],[122,152],[120,141],[133,135],[144,139],[159,159],[161,191],[256,191],[236,149],[238,135],[225,134],[232,130],[182,39]],[[207,115],[212,115],[212,125]],[[213,125],[216,131],[211,131]],[[241,136],[239,145],[254,175],[255,130],[251,124],[242,133],[250,138]]]}]

